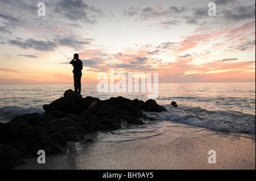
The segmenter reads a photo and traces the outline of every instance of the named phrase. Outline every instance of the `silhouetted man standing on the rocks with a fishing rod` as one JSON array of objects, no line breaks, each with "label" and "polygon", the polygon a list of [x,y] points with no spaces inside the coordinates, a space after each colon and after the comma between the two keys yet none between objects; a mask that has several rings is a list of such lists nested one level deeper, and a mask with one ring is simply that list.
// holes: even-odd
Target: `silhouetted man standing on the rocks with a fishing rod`
[{"label": "silhouetted man standing on the rocks with a fishing rod", "polygon": [[74,54],[74,58],[71,60],[70,64],[74,67],[73,74],[75,92],[81,94],[82,61],[79,59],[79,54]]}]

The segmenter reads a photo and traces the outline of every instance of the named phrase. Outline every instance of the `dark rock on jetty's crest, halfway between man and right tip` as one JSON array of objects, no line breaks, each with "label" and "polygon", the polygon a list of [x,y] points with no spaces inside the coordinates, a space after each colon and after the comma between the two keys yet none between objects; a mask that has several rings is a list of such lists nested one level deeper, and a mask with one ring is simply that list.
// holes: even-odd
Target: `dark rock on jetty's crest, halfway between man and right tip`
[{"label": "dark rock on jetty's crest, halfway between man and right tip", "polygon": [[123,108],[126,110],[133,109],[133,102],[130,99],[123,98],[122,96],[118,96],[117,98],[109,99],[110,105],[116,108]]}]

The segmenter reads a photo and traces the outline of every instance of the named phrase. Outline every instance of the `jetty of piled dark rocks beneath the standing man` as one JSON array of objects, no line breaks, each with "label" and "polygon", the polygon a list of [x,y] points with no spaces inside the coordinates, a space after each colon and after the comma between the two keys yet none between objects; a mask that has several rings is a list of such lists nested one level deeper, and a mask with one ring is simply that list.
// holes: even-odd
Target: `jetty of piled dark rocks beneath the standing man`
[{"label": "jetty of piled dark rocks beneath the standing man", "polygon": [[24,158],[38,157],[38,150],[63,153],[68,141],[86,140],[92,131],[111,131],[123,123],[139,125],[145,119],[154,120],[143,111],[166,111],[152,99],[82,98],[73,90],[65,91],[63,97],[45,104],[43,109],[46,112],[41,115],[29,113],[0,123],[0,169],[15,169],[24,164]]}]

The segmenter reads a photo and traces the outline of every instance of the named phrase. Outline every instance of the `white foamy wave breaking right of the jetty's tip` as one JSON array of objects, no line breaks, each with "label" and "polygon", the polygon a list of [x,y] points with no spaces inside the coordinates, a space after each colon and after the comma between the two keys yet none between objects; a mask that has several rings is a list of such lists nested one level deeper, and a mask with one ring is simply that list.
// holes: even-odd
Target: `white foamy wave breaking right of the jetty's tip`
[{"label": "white foamy wave breaking right of the jetty's tip", "polygon": [[169,107],[167,112],[147,113],[157,120],[176,121],[225,132],[255,134],[255,115],[237,111],[207,111],[199,107]]}]

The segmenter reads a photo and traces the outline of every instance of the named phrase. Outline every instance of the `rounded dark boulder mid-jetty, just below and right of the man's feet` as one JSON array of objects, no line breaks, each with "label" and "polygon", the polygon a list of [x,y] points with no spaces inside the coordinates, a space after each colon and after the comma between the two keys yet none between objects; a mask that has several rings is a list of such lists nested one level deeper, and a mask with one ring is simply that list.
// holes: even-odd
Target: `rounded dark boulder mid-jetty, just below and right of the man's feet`
[{"label": "rounded dark boulder mid-jetty, just below and right of the man's feet", "polygon": [[87,131],[93,131],[97,128],[100,118],[92,112],[85,110],[81,113],[78,123]]}]

